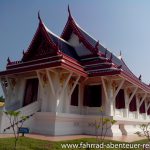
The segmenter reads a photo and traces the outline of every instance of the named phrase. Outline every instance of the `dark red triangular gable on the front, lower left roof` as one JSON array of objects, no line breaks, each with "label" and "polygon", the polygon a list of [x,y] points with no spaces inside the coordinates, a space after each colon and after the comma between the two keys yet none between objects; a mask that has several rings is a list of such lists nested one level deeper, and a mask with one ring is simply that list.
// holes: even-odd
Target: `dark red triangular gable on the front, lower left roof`
[{"label": "dark red triangular gable on the front, lower left roof", "polygon": [[26,62],[49,57],[55,55],[57,51],[56,44],[50,39],[45,26],[40,22],[28,50],[23,55],[22,61]]}]

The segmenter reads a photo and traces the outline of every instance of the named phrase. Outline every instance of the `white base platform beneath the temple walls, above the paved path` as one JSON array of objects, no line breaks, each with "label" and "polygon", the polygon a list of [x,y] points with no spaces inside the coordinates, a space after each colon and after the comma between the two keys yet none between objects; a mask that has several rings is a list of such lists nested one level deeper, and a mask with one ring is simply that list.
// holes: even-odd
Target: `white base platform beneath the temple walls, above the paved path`
[{"label": "white base platform beneath the temple walls, above the paved path", "polygon": [[[113,119],[113,117],[107,117]],[[117,120],[117,118],[114,119]],[[31,133],[45,135],[96,135],[95,120],[99,120],[99,116],[36,112],[32,118],[26,121],[24,126],[29,127]],[[108,129],[106,136],[134,134],[139,130],[138,124],[141,124],[141,122],[118,119],[117,123]],[[1,126],[3,126],[1,129],[6,127],[4,122],[1,122]],[[105,133],[105,128],[103,131]],[[11,130],[7,130],[6,133],[11,132]],[[3,133],[3,130],[1,130],[1,133]],[[98,134],[101,135],[100,129]]]}]

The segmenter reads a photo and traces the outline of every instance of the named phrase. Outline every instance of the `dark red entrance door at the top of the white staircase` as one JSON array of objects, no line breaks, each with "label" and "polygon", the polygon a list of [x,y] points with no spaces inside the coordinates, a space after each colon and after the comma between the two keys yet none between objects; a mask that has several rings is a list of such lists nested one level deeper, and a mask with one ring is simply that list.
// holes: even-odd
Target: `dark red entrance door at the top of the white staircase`
[{"label": "dark red entrance door at the top of the white staircase", "polygon": [[37,101],[38,84],[39,84],[39,81],[37,78],[28,79],[26,81],[23,106],[29,105]]}]

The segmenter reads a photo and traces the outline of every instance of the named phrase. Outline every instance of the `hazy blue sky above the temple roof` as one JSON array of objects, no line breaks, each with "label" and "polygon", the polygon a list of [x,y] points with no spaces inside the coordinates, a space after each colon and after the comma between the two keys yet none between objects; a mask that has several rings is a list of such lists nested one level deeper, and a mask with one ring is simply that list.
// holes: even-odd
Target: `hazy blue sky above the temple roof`
[{"label": "hazy blue sky above the temple roof", "polygon": [[[57,35],[67,21],[67,6],[76,22],[111,52],[119,55],[142,80],[150,82],[149,0],[1,0],[0,70],[6,60],[20,60],[38,26],[37,13]],[[0,95],[2,91],[0,90]]]}]

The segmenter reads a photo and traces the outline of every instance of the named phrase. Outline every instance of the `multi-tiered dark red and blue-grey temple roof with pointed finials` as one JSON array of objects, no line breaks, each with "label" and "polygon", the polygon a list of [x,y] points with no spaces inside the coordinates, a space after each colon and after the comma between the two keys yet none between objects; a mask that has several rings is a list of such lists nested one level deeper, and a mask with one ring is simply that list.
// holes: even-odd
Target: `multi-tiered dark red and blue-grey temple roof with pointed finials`
[{"label": "multi-tiered dark red and blue-grey temple roof with pointed finials", "polygon": [[60,37],[45,26],[38,14],[39,26],[28,50],[23,52],[21,61],[8,59],[6,70],[0,72],[0,76],[62,66],[84,77],[120,75],[150,92],[150,87],[130,71],[122,58],[116,57],[86,33],[76,23],[69,8],[68,12],[69,17]]}]

